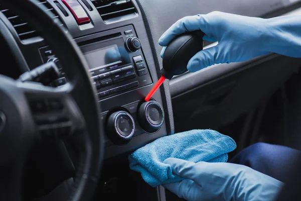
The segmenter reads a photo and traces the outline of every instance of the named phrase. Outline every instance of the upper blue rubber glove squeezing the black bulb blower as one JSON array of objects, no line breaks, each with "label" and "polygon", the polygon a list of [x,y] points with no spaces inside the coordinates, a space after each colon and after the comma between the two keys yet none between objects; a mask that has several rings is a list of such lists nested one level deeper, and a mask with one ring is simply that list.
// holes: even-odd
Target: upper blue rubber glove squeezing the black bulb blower
[{"label": "upper blue rubber glove squeezing the black bulb blower", "polygon": [[[188,70],[198,71],[218,63],[246,61],[270,52],[301,57],[300,16],[271,19],[252,18],[221,12],[185,17],[172,25],[159,39],[161,46],[184,32],[202,30],[207,41],[218,45],[197,53]],[[165,48],[161,52],[163,56]]]}]

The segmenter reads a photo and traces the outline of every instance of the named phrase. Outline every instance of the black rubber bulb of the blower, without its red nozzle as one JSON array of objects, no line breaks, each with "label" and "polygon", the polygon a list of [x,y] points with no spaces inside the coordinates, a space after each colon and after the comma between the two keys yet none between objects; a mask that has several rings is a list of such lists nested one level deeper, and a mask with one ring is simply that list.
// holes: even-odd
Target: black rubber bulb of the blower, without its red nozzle
[{"label": "black rubber bulb of the blower, without its red nozzle", "polygon": [[171,79],[187,71],[189,60],[199,51],[203,50],[202,31],[186,32],[172,40],[163,55],[163,68],[161,74]]}]

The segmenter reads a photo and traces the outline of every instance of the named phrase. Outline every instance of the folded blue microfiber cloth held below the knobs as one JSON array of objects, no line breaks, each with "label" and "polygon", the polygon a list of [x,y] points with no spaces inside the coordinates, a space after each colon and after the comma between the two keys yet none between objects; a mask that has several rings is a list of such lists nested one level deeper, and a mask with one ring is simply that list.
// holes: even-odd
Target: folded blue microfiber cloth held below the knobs
[{"label": "folded blue microfiber cloth held below the knobs", "polygon": [[227,162],[235,141],[213,130],[192,130],[159,138],[128,156],[130,169],[140,172],[150,186],[183,180],[174,175],[167,158],[192,162]]}]

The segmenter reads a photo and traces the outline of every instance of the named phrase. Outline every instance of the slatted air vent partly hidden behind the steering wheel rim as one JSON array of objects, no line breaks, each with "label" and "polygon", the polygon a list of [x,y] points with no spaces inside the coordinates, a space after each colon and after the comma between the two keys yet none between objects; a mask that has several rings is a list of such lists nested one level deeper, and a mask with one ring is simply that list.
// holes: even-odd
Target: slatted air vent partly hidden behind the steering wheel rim
[{"label": "slatted air vent partly hidden behind the steering wheel rim", "polygon": [[[39,0],[39,4],[43,4],[47,9],[46,12],[51,12],[55,16],[54,19],[57,18],[60,20],[58,13],[52,8],[52,6],[46,2],[45,0]],[[14,13],[10,9],[6,8],[3,4],[0,4],[0,11],[9,19],[9,21],[14,26],[19,38],[21,40],[31,39],[34,37],[38,37],[38,33],[34,30],[28,22],[24,21],[18,14]],[[61,21],[60,25],[64,26]]]}]

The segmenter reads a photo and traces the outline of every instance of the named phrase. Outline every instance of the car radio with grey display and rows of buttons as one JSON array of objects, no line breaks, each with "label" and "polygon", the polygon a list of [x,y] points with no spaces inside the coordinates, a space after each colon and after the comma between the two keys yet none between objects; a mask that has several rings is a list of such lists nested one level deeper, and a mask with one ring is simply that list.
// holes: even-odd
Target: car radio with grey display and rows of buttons
[{"label": "car radio with grey display and rows of buttons", "polygon": [[[132,26],[110,30],[96,38],[78,43],[87,63],[99,99],[118,95],[153,80],[141,50],[141,42]],[[44,62],[54,60],[49,46],[40,48]],[[58,84],[66,82],[61,77]]]}]

